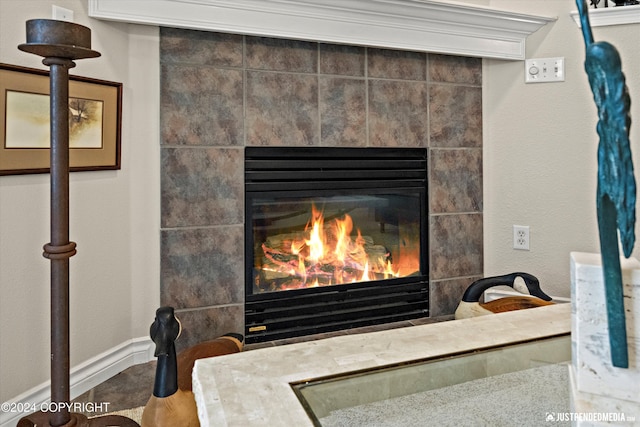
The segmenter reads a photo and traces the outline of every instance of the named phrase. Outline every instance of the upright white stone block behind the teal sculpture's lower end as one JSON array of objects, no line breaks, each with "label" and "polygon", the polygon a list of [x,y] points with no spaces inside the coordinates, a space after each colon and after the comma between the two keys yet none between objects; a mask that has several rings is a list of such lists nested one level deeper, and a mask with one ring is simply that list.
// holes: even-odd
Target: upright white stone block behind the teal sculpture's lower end
[{"label": "upright white stone block behind the teal sculpture's lower end", "polygon": [[[640,262],[621,258],[621,267],[629,346],[627,369],[611,364],[600,255],[571,253],[572,375],[579,392],[640,403]],[[594,396],[585,399],[604,402]],[[640,416],[638,406],[635,408],[635,415]]]}]

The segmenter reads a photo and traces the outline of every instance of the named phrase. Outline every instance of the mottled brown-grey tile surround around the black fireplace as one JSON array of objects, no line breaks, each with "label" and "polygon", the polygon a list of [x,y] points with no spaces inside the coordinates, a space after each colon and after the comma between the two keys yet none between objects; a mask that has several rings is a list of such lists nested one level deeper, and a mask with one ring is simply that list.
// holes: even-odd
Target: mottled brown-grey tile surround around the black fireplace
[{"label": "mottled brown-grey tile surround around the black fireplace", "polygon": [[161,304],[244,330],[245,146],[428,147],[430,316],[482,276],[482,60],[161,28]]}]

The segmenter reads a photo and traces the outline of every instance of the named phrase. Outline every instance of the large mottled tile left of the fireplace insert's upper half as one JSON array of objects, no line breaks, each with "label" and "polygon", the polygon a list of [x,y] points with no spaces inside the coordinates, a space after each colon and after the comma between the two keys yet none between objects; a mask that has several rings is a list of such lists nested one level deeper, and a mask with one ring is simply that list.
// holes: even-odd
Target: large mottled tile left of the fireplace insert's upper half
[{"label": "large mottled tile left of the fireplace insert's upper half", "polygon": [[242,224],[242,150],[163,148],[160,161],[163,228]]}]

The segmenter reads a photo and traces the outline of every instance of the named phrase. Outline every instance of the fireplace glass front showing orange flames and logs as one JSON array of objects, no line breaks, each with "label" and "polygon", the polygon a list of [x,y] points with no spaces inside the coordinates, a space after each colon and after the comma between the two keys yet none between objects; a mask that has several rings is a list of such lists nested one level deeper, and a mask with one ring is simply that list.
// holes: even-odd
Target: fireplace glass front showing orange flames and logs
[{"label": "fireplace glass front showing orange flames and logs", "polygon": [[419,192],[253,198],[253,293],[420,274]]}]

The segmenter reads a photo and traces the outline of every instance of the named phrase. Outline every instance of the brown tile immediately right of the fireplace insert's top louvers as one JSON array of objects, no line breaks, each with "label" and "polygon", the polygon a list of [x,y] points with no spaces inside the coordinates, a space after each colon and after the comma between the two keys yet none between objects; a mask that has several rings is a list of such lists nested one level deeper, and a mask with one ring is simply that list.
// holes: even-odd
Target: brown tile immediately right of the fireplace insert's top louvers
[{"label": "brown tile immediately right of the fireplace insert's top louvers", "polygon": [[482,211],[482,149],[431,149],[431,213]]}]

